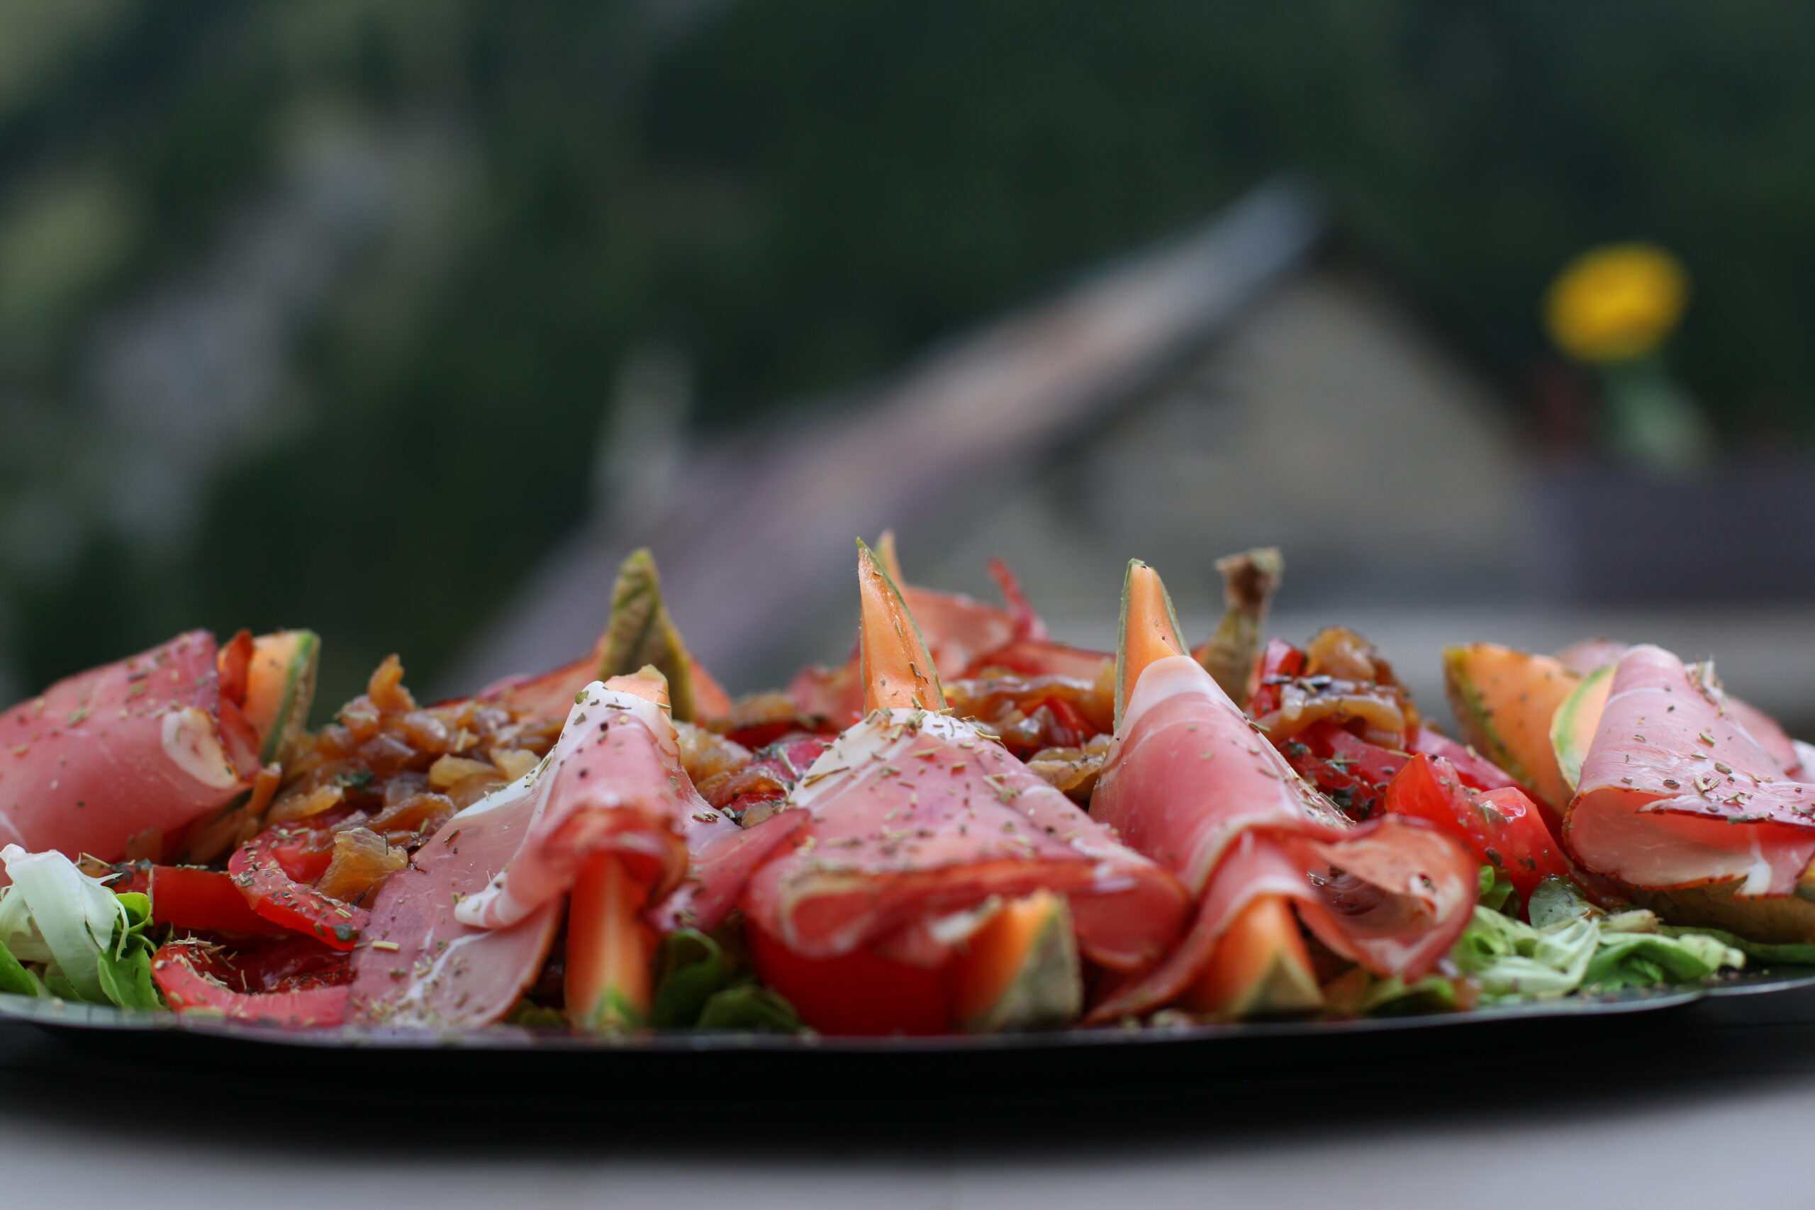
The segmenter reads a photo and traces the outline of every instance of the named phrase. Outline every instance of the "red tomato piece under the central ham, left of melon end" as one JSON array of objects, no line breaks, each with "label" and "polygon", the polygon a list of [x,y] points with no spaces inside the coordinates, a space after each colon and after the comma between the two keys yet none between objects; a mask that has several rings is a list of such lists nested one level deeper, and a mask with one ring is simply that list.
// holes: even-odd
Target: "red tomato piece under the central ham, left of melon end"
[{"label": "red tomato piece under the central ham, left of melon end", "polygon": [[842,958],[802,958],[751,925],[757,976],[793,1003],[822,1034],[944,1034],[951,1009],[938,971],[853,951]]}]

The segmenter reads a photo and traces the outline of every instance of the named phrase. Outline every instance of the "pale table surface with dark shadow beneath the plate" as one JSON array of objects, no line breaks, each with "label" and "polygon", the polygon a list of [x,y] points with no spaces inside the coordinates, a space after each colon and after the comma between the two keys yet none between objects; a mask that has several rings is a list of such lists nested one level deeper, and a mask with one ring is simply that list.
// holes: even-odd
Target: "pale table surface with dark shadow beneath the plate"
[{"label": "pale table surface with dark shadow beneath the plate", "polygon": [[1327,1081],[1056,1101],[310,1085],[120,1067],[0,1027],[0,1205],[1815,1206],[1815,992]]}]

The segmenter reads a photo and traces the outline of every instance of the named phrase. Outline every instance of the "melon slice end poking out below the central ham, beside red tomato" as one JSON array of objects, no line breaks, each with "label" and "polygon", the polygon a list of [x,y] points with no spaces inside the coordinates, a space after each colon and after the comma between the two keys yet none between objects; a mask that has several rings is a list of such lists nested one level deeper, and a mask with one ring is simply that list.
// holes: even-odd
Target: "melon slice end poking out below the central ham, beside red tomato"
[{"label": "melon slice end poking out below the central ham, beside red tomato", "polygon": [[1065,896],[1004,903],[947,971],[951,1016],[969,1032],[1067,1025],[1084,1010],[1084,976]]}]

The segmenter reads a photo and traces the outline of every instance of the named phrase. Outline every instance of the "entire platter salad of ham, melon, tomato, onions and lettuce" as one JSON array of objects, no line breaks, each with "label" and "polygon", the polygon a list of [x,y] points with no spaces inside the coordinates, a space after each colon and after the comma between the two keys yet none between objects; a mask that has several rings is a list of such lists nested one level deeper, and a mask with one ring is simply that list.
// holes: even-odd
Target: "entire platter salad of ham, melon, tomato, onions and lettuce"
[{"label": "entire platter salad of ham, melon, tomato, onions and lettuce", "polygon": [[310,727],[319,640],[194,631],[0,715],[0,1007],[283,1030],[937,1036],[1470,1012],[1815,965],[1815,747],[1712,664],[1354,631],[1114,651],[858,544],[849,659],[733,698],[648,551],[583,659]]}]

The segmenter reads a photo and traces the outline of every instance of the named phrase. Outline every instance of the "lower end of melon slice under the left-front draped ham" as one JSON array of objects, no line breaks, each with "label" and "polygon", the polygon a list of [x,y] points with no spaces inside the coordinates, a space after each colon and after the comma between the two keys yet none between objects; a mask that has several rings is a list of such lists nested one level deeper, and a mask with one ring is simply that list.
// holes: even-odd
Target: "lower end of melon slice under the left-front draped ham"
[{"label": "lower end of melon slice under the left-front draped ham", "polygon": [[577,1029],[610,1034],[650,1020],[655,932],[641,918],[648,898],[615,853],[581,867],[566,949],[566,1009]]}]

